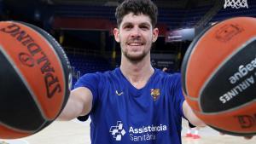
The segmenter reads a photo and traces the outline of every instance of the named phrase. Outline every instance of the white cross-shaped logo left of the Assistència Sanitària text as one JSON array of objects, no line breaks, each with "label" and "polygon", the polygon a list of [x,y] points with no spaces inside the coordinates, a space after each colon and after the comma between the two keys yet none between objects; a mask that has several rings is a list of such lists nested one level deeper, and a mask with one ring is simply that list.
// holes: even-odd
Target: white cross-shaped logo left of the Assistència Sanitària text
[{"label": "white cross-shaped logo left of the Assist\u00e8ncia Sanit\u00e0ria text", "polygon": [[116,141],[121,141],[122,136],[125,135],[125,129],[123,128],[123,124],[121,121],[117,121],[116,126],[111,126],[109,132],[113,135],[113,138]]}]

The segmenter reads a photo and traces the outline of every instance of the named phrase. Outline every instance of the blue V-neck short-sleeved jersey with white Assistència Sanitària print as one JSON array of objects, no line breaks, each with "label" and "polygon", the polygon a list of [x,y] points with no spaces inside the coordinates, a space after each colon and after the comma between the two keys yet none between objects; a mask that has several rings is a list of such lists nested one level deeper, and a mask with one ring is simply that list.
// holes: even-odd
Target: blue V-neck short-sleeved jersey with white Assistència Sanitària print
[{"label": "blue V-neck short-sleeved jersey with white Assist\u00e8ncia Sanit\u00e0ria print", "polygon": [[184,97],[180,74],[154,69],[137,89],[119,68],[85,74],[75,88],[93,95],[90,112],[92,144],[181,144]]}]

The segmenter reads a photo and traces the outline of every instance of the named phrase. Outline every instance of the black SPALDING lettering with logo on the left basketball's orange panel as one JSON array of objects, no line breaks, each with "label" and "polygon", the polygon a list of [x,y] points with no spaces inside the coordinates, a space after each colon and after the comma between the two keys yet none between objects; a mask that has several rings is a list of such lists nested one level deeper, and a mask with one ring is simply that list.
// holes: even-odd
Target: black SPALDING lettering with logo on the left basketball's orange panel
[{"label": "black SPALDING lettering with logo on the left basketball's orange panel", "polygon": [[15,37],[19,43],[26,47],[29,54],[23,52],[20,53],[20,62],[30,67],[38,64],[40,72],[44,76],[48,98],[52,98],[56,92],[61,93],[59,78],[55,75],[55,68],[51,66],[48,56],[44,53],[44,49],[42,49],[38,43],[36,43],[34,39],[18,25],[11,24],[0,29],[0,32],[5,32],[11,37]]}]

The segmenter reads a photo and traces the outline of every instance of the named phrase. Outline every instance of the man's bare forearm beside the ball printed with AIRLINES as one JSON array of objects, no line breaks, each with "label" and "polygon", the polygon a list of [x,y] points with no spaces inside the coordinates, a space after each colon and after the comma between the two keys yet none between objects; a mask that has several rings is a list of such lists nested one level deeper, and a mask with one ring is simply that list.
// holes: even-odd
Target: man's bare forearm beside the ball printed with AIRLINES
[{"label": "man's bare forearm beside the ball printed with AIRLINES", "polygon": [[200,118],[198,118],[191,107],[189,107],[189,104],[187,101],[183,102],[183,113],[186,118],[188,118],[189,122],[195,126],[204,127],[206,124],[201,121]]}]

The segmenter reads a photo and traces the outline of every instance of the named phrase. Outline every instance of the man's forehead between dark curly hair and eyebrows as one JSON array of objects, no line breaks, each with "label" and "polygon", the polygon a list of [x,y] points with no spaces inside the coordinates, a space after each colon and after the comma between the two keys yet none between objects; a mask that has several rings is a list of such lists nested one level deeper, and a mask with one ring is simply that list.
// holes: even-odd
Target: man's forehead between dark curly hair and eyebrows
[{"label": "man's forehead between dark curly hair and eyebrows", "polygon": [[147,23],[148,25],[152,25],[151,24],[151,20],[149,18],[148,15],[145,15],[145,14],[133,14],[133,13],[129,13],[129,14],[126,14],[124,17],[123,17],[123,20],[121,22],[121,26],[126,24],[126,23],[131,23],[131,24],[143,24],[143,23]]}]

